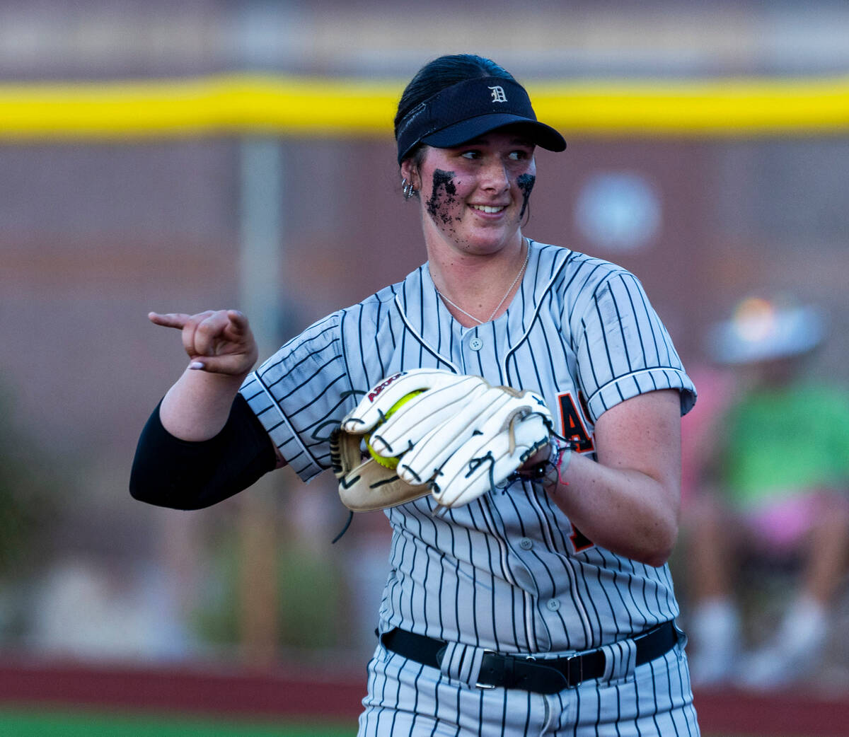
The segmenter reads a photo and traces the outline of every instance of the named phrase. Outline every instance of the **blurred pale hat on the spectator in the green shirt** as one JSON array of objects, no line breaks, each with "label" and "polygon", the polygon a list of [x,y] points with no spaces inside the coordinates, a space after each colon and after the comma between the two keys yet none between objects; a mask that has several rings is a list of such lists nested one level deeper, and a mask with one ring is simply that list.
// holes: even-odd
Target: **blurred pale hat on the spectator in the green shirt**
[{"label": "blurred pale hat on the spectator in the green shirt", "polygon": [[747,297],[732,318],[713,326],[708,351],[717,363],[755,363],[812,351],[825,335],[824,317],[816,307],[778,305]]}]

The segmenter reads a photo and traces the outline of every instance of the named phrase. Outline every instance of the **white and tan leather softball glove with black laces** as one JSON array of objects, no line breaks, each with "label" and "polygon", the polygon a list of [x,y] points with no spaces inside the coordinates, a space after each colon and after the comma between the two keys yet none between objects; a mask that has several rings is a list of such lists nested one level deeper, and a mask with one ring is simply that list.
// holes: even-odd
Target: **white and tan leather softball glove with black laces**
[{"label": "white and tan leather softball glove with black laces", "polygon": [[395,506],[428,492],[447,508],[502,486],[549,442],[552,428],[545,402],[531,391],[413,369],[368,391],[335,433],[331,460],[349,509]]}]

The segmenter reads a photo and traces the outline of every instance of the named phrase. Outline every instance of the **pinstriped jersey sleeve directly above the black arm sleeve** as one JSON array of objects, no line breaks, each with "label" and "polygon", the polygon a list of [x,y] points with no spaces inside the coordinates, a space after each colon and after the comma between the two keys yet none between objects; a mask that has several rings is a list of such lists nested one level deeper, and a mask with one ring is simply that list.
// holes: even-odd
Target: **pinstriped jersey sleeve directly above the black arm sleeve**
[{"label": "pinstriped jersey sleeve directly above the black arm sleeve", "polygon": [[329,467],[329,436],[350,404],[338,313],[248,374],[239,391],[303,481]]}]

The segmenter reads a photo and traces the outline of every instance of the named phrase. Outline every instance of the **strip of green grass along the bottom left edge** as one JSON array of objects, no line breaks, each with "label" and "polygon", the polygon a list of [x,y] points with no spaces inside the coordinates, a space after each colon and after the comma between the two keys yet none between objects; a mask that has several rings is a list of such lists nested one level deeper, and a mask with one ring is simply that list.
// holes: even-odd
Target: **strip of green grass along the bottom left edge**
[{"label": "strip of green grass along the bottom left edge", "polygon": [[232,717],[151,716],[130,712],[0,709],[0,734],[8,737],[350,737],[357,724],[276,722]]}]

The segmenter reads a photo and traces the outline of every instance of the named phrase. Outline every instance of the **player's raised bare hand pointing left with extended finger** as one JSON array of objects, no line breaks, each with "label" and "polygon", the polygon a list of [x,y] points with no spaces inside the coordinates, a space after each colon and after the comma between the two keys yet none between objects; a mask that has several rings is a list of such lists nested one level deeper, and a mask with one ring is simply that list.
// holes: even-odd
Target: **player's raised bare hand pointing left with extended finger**
[{"label": "player's raised bare hand pointing left with extended finger", "polygon": [[248,318],[238,310],[207,310],[194,315],[149,312],[148,318],[156,325],[181,331],[189,369],[244,378],[256,363],[256,340]]}]

